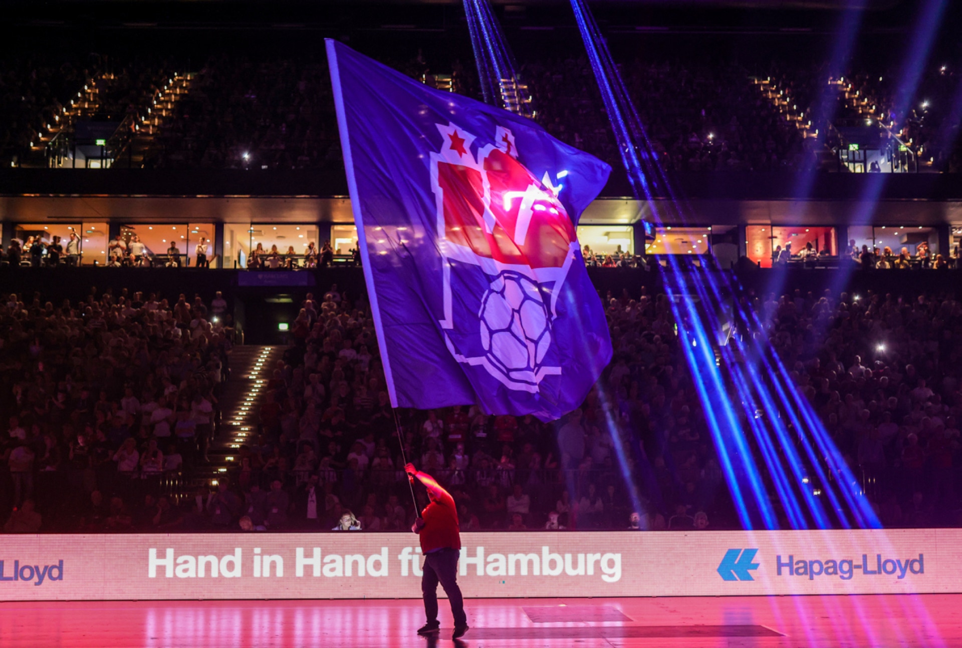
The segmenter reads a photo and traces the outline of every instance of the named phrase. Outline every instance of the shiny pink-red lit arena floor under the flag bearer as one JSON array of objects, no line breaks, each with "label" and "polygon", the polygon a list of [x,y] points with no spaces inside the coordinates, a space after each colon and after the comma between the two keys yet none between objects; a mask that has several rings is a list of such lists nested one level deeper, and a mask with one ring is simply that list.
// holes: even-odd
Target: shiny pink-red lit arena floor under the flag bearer
[{"label": "shiny pink-red lit arena floor under the flag bearer", "polygon": [[430,639],[419,601],[4,603],[0,646],[962,646],[962,595],[469,600],[457,643],[441,603]]}]

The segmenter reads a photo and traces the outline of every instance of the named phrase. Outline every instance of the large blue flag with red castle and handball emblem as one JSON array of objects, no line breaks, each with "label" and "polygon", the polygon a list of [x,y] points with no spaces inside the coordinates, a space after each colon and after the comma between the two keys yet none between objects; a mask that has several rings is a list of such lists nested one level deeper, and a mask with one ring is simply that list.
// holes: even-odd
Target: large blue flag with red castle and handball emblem
[{"label": "large blue flag with red castle and handball emblem", "polygon": [[575,227],[611,167],[334,40],[327,55],[392,405],[578,407],[611,339]]}]

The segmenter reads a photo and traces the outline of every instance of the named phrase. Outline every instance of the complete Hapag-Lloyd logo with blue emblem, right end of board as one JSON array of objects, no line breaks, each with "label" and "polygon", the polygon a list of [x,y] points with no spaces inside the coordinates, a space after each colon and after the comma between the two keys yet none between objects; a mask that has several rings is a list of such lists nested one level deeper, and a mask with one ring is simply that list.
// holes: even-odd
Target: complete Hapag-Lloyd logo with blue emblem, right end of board
[{"label": "complete Hapag-Lloyd logo with blue emblem, right end of board", "polygon": [[[722,562],[719,563],[719,575],[724,581],[753,581],[749,570],[758,569],[761,566],[758,562],[753,562],[758,549],[729,549],[725,552]],[[856,574],[863,576],[895,576],[899,581],[909,574],[924,575],[925,555],[919,554],[919,558],[908,558],[905,560],[884,558],[882,554],[875,554],[874,560],[869,554],[862,554],[861,560],[858,559],[798,559],[790,554],[784,559],[782,556],[775,556],[775,575],[776,576],[797,576],[806,577],[809,581],[814,581],[817,577],[836,576],[843,581],[850,581]]]}]

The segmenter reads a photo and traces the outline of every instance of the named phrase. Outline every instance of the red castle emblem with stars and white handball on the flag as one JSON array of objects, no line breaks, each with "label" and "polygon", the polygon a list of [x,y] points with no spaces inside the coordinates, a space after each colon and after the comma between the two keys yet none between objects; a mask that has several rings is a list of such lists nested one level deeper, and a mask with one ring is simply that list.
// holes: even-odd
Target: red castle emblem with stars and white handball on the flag
[{"label": "red castle emblem with stars and white handball on the flag", "polygon": [[[431,156],[431,178],[448,262],[444,290],[458,286],[465,271],[484,277],[461,278],[461,285],[479,290],[477,280],[488,283],[476,313],[455,317],[445,308],[446,342],[458,361],[484,367],[509,389],[538,392],[544,376],[562,372],[552,353],[555,288],[579,257],[574,225],[558,199],[563,185],[547,174],[535,178],[518,161],[510,129],[495,127],[494,143],[476,152],[466,129],[449,123],[438,130],[443,146]],[[444,303],[451,304],[447,294]]]}]

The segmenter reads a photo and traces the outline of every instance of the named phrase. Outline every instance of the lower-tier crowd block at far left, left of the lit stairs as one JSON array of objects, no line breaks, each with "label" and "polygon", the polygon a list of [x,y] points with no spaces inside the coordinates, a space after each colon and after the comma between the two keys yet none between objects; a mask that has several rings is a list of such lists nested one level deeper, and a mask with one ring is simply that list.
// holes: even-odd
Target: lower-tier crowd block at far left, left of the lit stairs
[{"label": "lower-tier crowd block at far left, left of the lit stairs", "polygon": [[[0,510],[7,530],[123,529],[134,494],[204,461],[226,378],[226,301],[0,300]],[[36,506],[35,506],[36,505]],[[158,506],[165,506],[159,504]],[[29,514],[23,512],[29,511]],[[157,509],[150,513],[156,517]],[[163,515],[162,515],[163,517]]]}]

